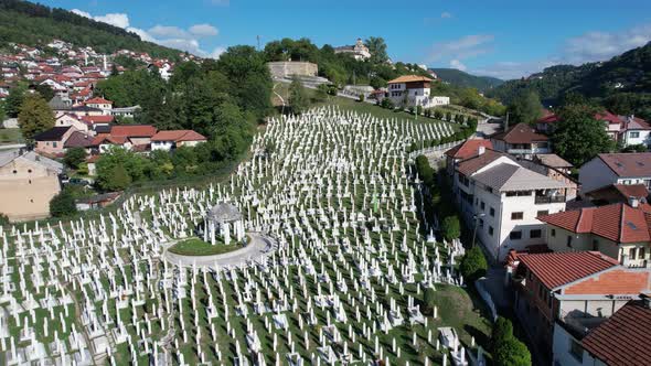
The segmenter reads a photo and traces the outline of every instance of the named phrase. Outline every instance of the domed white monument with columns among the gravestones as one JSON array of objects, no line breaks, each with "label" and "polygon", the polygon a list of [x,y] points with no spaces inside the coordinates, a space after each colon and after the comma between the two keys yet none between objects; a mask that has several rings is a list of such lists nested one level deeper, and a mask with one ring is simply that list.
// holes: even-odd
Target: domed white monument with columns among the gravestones
[{"label": "domed white monument with columns among the gravestones", "polygon": [[235,235],[235,240],[244,239],[244,223],[239,209],[234,205],[222,202],[214,205],[204,217],[203,240],[214,245],[215,236],[218,235],[224,239],[224,244],[231,244],[231,235]]}]

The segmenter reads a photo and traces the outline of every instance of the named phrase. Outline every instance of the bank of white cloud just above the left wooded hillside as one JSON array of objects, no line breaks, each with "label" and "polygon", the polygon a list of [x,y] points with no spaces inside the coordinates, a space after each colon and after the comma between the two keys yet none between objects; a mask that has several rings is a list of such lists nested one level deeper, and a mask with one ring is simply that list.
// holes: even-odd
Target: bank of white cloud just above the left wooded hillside
[{"label": "bank of white cloud just above the left wooded hillside", "polygon": [[221,47],[215,49],[212,53],[201,49],[199,43],[200,37],[210,37],[218,34],[217,29],[211,24],[195,24],[189,30],[184,30],[174,25],[157,24],[146,31],[139,28],[130,26],[129,17],[125,13],[108,13],[105,15],[93,17],[90,13],[78,9],[73,9],[72,12],[96,20],[98,22],[122,28],[128,32],[138,34],[143,41],[186,51],[199,56],[218,57],[218,55],[223,53],[223,51],[218,51],[223,50]]}]

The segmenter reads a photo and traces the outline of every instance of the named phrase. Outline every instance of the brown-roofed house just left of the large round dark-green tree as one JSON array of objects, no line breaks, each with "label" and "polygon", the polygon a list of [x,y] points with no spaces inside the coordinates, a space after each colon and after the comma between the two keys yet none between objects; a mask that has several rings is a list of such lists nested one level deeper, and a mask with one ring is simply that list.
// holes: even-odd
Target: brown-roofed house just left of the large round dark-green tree
[{"label": "brown-roofed house just left of the large round dark-green tree", "polygon": [[490,139],[495,150],[525,159],[552,152],[549,138],[526,123],[512,126]]}]

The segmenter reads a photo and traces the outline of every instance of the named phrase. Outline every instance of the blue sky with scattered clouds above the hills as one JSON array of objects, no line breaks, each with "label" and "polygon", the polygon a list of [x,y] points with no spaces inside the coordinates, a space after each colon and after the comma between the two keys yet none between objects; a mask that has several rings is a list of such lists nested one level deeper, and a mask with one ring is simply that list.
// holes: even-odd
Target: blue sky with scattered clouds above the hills
[{"label": "blue sky with scattered clouds above the hills", "polygon": [[202,56],[307,36],[382,36],[394,61],[515,78],[608,60],[651,41],[649,0],[41,0]]}]

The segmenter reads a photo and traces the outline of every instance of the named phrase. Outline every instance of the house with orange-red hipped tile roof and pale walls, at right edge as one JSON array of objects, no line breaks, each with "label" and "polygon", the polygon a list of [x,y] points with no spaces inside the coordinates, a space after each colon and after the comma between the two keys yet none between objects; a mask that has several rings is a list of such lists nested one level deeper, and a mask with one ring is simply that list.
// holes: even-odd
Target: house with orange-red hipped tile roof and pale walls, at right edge
[{"label": "house with orange-red hipped tile roof and pale walls, at right edge", "polygon": [[541,215],[551,250],[599,251],[623,266],[645,267],[651,259],[651,205],[637,198],[600,207]]}]

